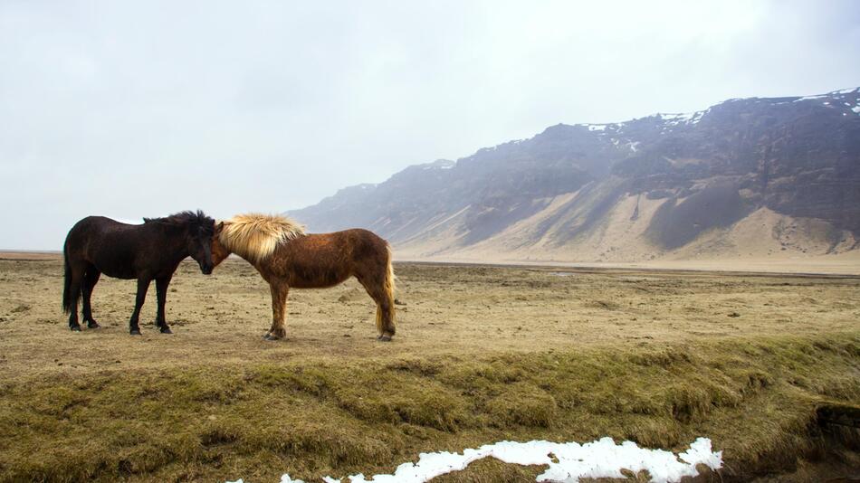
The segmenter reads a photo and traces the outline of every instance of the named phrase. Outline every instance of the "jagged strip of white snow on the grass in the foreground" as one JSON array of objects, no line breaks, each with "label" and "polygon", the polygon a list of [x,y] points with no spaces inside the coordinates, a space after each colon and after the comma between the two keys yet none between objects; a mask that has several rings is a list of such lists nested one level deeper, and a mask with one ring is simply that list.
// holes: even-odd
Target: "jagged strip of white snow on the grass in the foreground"
[{"label": "jagged strip of white snow on the grass in the foreground", "polygon": [[[551,456],[550,456],[551,455]],[[431,478],[460,471],[477,459],[492,457],[517,465],[549,466],[536,481],[577,483],[579,478],[625,478],[622,469],[634,473],[646,470],[655,483],[681,481],[683,477],[699,474],[696,465],[710,469],[722,467],[722,451],[711,449],[711,440],[699,438],[690,449],[677,455],[665,450],[639,448],[633,441],[616,444],[611,438],[580,445],[577,442],[554,443],[549,441],[502,441],[487,444],[477,450],[464,450],[463,454],[440,451],[421,453],[417,463],[403,463],[392,475],[374,475],[367,479],[363,474],[352,475],[349,483],[424,483]],[[558,462],[556,462],[558,461]],[[326,483],[342,483],[343,478],[322,478]],[[227,482],[231,483],[231,482]],[[238,479],[233,483],[243,483]],[[284,474],[281,483],[304,483]]]}]

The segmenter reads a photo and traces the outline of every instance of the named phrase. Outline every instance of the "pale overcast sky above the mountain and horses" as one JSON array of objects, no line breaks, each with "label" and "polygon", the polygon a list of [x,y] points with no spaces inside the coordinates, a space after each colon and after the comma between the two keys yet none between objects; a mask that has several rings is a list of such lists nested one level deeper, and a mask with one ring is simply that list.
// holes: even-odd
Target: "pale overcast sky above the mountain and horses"
[{"label": "pale overcast sky above the mountain and horses", "polygon": [[0,249],[280,213],[563,122],[860,86],[860,2],[0,0]]}]

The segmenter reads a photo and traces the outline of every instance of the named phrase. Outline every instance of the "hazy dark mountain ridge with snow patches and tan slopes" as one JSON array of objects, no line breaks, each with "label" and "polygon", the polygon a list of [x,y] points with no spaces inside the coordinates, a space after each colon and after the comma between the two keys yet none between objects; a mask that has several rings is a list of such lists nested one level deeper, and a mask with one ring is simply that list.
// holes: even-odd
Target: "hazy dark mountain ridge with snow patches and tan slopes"
[{"label": "hazy dark mountain ridge with snow patches and tan slopes", "polygon": [[860,88],[559,124],[288,212],[399,256],[653,260],[860,248]]}]

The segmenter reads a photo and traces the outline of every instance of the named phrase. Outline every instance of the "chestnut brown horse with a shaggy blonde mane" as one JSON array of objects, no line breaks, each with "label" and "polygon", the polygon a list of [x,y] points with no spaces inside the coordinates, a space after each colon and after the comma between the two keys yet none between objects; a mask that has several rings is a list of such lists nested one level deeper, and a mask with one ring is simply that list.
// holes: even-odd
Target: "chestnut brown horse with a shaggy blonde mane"
[{"label": "chestnut brown horse with a shaggy blonde mane", "polygon": [[235,253],[249,261],[272,290],[272,328],[263,338],[286,335],[283,319],[287,293],[294,289],[333,287],[351,276],[377,302],[380,341],[394,336],[394,270],[391,248],[376,234],[354,229],[305,233],[289,218],[257,213],[236,215],[216,227],[212,261],[217,266]]}]

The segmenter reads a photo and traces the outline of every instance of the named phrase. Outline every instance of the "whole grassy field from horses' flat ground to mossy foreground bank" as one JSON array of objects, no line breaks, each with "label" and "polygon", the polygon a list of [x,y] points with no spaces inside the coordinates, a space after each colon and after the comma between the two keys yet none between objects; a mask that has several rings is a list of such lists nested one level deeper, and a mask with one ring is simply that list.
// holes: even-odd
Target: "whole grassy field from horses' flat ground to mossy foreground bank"
[{"label": "whole grassy field from horses' flat ground to mossy foreground bank", "polygon": [[[287,340],[266,342],[269,291],[242,260],[211,277],[184,264],[175,334],[150,322],[140,337],[134,282],[102,279],[102,328],[71,333],[62,261],[0,260],[0,479],[318,481],[423,451],[603,436],[666,450],[709,437],[718,480],[860,465],[855,434],[840,445],[816,417],[860,402],[860,279],[396,270],[394,342],[376,341],[354,281],[294,290]],[[540,470],[482,461],[439,479]]]}]

